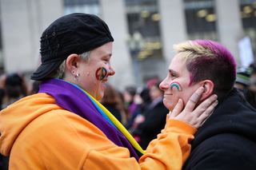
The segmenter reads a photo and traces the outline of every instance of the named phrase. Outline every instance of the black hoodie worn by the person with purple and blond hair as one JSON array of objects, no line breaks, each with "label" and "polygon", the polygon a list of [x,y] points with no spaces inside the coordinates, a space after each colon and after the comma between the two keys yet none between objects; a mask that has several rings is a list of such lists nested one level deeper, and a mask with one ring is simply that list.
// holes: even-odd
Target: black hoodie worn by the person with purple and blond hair
[{"label": "black hoodie worn by the person with purple and blond hair", "polygon": [[191,143],[182,169],[256,169],[256,110],[233,89]]}]

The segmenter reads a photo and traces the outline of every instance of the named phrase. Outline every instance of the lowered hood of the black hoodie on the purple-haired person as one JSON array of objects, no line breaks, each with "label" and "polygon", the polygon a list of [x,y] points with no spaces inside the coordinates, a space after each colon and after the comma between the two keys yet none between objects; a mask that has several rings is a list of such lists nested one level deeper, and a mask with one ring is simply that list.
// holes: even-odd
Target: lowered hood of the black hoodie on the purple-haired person
[{"label": "lowered hood of the black hoodie on the purple-haired person", "polygon": [[202,141],[221,133],[245,136],[256,142],[256,110],[233,89],[214,110],[214,113],[198,129],[192,142],[192,150]]}]

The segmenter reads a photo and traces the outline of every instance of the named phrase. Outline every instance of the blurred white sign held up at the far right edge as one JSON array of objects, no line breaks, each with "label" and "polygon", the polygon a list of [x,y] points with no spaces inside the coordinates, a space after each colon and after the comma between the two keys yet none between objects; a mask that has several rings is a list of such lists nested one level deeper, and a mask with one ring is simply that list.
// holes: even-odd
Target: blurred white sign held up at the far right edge
[{"label": "blurred white sign held up at the far right edge", "polygon": [[242,38],[242,40],[238,42],[238,48],[241,66],[246,68],[249,67],[249,65],[254,63],[254,53],[253,49],[251,48],[250,38],[248,36]]}]

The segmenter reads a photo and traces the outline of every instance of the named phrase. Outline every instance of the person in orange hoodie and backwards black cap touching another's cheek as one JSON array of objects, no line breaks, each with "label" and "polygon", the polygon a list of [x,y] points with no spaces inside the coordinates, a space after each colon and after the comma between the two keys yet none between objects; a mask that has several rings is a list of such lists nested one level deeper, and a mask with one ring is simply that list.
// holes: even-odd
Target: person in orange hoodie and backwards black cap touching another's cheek
[{"label": "person in orange hoodie and backwards black cap touching another's cheek", "polygon": [[[58,18],[42,34],[42,64],[30,77],[39,92],[0,113],[0,152],[10,169],[181,169],[190,142],[217,105],[213,95],[194,109],[199,88],[184,109],[166,113],[166,126],[145,151],[98,101],[115,73],[114,38],[92,14]],[[195,123],[196,122],[196,123]]]}]

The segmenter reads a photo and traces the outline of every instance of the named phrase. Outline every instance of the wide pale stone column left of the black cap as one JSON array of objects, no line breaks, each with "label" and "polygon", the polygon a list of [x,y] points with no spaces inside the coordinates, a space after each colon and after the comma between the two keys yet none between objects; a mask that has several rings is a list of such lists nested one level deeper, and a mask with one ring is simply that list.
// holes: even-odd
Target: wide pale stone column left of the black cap
[{"label": "wide pale stone column left of the black cap", "polygon": [[5,71],[33,72],[42,31],[62,16],[62,0],[1,0],[1,15]]}]

